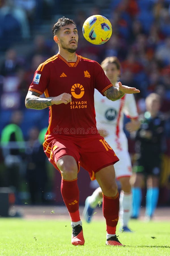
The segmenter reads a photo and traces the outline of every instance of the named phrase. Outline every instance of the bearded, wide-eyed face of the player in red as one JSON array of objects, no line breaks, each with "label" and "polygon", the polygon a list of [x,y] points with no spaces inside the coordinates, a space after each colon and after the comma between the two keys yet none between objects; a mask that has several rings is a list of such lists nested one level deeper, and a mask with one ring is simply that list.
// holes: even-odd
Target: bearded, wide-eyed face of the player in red
[{"label": "bearded, wide-eyed face of the player in red", "polygon": [[[55,37],[57,41],[55,40]],[[60,28],[58,35],[54,36],[54,41],[57,42],[60,48],[66,49],[73,53],[77,49],[78,34],[74,24],[69,24]]]}]

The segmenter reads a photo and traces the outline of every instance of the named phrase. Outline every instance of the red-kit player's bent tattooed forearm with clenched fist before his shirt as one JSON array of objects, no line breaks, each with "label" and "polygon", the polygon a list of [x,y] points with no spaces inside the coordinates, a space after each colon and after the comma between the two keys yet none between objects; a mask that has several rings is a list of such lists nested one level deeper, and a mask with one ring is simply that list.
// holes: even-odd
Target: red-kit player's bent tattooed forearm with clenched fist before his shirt
[{"label": "red-kit player's bent tattooed forearm with clenched fist before his shirt", "polygon": [[33,91],[28,91],[27,96],[25,98],[25,106],[26,108],[33,108],[33,109],[44,109],[52,105],[59,105],[61,103],[67,104],[71,102],[71,94],[69,93],[62,93],[56,97],[48,97],[48,98],[41,98],[41,94]]}]

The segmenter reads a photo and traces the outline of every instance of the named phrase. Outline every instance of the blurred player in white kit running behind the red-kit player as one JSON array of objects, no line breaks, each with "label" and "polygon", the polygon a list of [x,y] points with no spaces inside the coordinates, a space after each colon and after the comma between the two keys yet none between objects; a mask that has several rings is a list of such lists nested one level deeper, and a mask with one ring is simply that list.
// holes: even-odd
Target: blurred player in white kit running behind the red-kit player
[{"label": "blurred player in white kit running behind the red-kit player", "polygon": [[[102,63],[106,76],[112,84],[118,87],[121,65],[117,57],[106,57]],[[126,124],[129,132],[137,131],[140,127],[137,106],[133,94],[125,94],[120,100],[112,102],[95,89],[94,93],[97,129],[105,141],[113,148],[120,161],[114,164],[116,178],[120,181],[120,229],[131,232],[128,222],[132,210],[132,193],[129,179],[132,175],[131,158],[128,152],[128,140],[123,131],[124,114],[130,118]],[[92,181],[95,182],[95,181]],[[97,184],[98,185],[98,184]],[[98,202],[102,202],[103,194],[100,187],[87,197],[83,211],[86,222],[91,222],[92,215]]]}]

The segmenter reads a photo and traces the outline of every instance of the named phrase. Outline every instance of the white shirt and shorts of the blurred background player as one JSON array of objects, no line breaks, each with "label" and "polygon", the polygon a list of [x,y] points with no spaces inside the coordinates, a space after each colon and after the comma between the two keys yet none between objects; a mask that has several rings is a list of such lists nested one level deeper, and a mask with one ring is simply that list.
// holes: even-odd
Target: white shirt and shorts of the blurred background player
[{"label": "white shirt and shorts of the blurred background player", "polygon": [[120,159],[114,164],[116,177],[131,175],[128,140],[123,131],[123,125],[124,114],[129,118],[138,117],[134,95],[125,94],[120,100],[111,101],[95,89],[94,104],[97,128],[107,133],[105,141]]}]

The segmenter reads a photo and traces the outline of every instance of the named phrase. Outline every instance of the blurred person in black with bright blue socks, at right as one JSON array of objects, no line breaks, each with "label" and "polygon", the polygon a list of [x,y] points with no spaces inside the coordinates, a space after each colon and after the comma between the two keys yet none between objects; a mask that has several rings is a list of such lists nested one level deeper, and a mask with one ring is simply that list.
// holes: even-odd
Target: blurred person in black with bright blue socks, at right
[{"label": "blurred person in black with bright blue socks, at right", "polygon": [[138,218],[142,201],[141,187],[146,177],[145,216],[150,220],[154,214],[159,197],[159,179],[162,164],[164,121],[160,114],[160,96],[151,93],[146,97],[146,112],[141,117],[141,127],[136,133],[136,162],[133,166],[132,218]]}]

